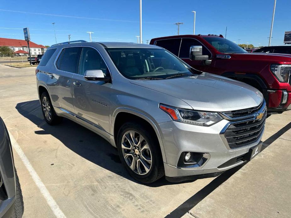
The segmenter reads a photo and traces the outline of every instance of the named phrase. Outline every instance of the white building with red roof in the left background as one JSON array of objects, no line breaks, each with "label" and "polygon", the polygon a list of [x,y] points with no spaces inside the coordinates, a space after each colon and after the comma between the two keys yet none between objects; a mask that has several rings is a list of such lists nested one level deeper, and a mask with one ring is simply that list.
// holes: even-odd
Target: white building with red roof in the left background
[{"label": "white building with red roof in the left background", "polygon": [[[13,50],[15,54],[28,54],[27,41],[21,39],[8,39],[8,38],[0,38],[0,47],[8,46]],[[29,47],[31,51],[31,55],[44,54],[47,48],[43,45],[38,45],[32,41],[29,41]],[[20,50],[25,51],[27,53],[19,52]],[[16,52],[17,51],[17,52]]]}]

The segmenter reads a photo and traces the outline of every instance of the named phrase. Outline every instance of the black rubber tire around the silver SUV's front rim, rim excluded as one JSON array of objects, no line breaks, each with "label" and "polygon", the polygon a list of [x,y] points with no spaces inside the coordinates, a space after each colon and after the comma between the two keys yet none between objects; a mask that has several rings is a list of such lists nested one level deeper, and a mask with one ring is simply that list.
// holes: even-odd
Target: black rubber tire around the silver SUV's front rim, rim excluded
[{"label": "black rubber tire around the silver SUV's front rim, rim excluded", "polygon": [[[142,134],[144,139],[148,143],[148,146],[149,146],[150,151],[151,151],[151,156],[152,156],[152,166],[147,174],[139,175],[136,172],[133,172],[132,169],[130,169],[130,167],[127,165],[127,163],[123,157],[123,153],[122,153],[122,149],[121,149],[121,141],[122,141],[123,135],[129,130],[134,130],[134,131]],[[159,143],[152,136],[152,133],[146,131],[142,125],[140,125],[138,123],[133,123],[133,122],[124,123],[118,132],[116,146],[117,146],[117,150],[118,150],[118,154],[120,156],[121,162],[125,166],[127,172],[129,172],[129,174],[133,178],[135,178],[137,181],[140,181],[142,183],[152,183],[155,180],[160,178],[159,177],[159,167],[163,167],[162,166],[163,161],[161,159],[161,156],[159,155],[160,154],[160,152],[158,150],[158,149],[160,149]]]}]

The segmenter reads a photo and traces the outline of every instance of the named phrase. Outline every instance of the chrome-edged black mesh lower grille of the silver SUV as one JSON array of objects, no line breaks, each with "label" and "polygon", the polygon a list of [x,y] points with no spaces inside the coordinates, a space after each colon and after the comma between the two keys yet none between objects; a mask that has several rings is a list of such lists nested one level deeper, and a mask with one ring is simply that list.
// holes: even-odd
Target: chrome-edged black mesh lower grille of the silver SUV
[{"label": "chrome-edged black mesh lower grille of the silver SUV", "polygon": [[231,149],[247,146],[258,140],[266,122],[266,110],[261,120],[249,120],[232,123],[224,136]]}]

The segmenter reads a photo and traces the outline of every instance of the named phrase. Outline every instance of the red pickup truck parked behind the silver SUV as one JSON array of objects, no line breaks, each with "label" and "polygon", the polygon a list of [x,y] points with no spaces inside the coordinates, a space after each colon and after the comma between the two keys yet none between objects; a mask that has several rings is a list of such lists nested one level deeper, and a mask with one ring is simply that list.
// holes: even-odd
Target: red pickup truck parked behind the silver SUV
[{"label": "red pickup truck parked behind the silver SUV", "polygon": [[[264,95],[269,114],[291,110],[291,55],[248,53],[213,34],[160,37],[150,44],[167,49],[195,69],[252,85]],[[191,54],[190,47],[196,53]]]}]

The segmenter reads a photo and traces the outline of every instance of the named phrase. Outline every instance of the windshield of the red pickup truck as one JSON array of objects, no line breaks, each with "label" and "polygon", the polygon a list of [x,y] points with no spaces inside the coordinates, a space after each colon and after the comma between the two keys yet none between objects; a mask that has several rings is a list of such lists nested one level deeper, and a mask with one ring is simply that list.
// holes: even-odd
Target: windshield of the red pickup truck
[{"label": "windshield of the red pickup truck", "polygon": [[[203,37],[210,45],[222,53],[248,53],[234,42],[221,37]],[[225,49],[224,49],[225,48]]]}]

